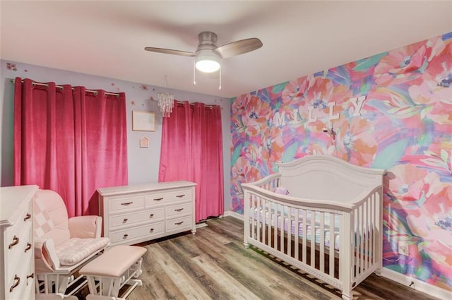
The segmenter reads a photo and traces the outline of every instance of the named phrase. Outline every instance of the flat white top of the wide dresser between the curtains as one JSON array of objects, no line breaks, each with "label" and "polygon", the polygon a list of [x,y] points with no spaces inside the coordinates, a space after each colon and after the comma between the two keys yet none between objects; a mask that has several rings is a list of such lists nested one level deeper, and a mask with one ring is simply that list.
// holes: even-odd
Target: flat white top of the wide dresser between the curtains
[{"label": "flat white top of the wide dresser between the curtains", "polygon": [[97,188],[101,196],[120,195],[122,193],[139,193],[145,191],[165,191],[173,188],[187,188],[196,186],[191,181],[167,181],[153,182],[149,184],[132,184],[129,186],[112,186],[109,188]]}]

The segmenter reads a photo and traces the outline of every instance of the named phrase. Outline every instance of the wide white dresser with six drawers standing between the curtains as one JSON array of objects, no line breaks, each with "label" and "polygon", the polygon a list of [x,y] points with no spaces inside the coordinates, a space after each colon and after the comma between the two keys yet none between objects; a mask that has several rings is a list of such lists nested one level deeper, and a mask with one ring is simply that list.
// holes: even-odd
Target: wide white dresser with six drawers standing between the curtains
[{"label": "wide white dresser with six drawers standing between the curtains", "polygon": [[112,246],[196,232],[195,186],[170,181],[98,188],[102,235]]}]

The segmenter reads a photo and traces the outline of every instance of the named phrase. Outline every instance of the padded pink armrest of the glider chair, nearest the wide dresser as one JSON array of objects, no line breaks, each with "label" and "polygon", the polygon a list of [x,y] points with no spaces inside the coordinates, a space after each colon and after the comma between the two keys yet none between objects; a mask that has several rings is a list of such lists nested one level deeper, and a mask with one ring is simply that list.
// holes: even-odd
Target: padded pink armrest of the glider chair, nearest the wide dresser
[{"label": "padded pink armrest of the glider chair, nearest the wide dresser", "polygon": [[102,217],[97,215],[71,217],[69,232],[71,232],[71,238],[99,238],[102,232]]}]

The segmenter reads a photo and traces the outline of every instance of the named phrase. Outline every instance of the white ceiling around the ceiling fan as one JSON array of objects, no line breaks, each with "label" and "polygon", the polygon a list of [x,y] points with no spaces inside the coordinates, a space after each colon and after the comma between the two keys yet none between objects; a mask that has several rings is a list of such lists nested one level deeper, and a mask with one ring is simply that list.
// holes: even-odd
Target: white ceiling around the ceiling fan
[{"label": "white ceiling around the ceiling fan", "polygon": [[[449,0],[0,4],[1,59],[219,97],[452,32]],[[217,33],[218,46],[258,37],[263,47],[222,61],[221,90],[218,74],[196,73],[193,85],[194,58],[144,50],[194,52],[201,31]]]}]

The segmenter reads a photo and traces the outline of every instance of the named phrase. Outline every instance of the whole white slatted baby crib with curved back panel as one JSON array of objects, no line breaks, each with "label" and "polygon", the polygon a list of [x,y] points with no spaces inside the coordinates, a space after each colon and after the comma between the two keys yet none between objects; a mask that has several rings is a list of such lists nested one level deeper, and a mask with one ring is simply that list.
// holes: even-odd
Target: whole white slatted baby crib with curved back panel
[{"label": "whole white slatted baby crib with curved back panel", "polygon": [[382,267],[386,171],[325,155],[278,167],[242,184],[245,247],[261,248],[352,299],[352,289]]}]

